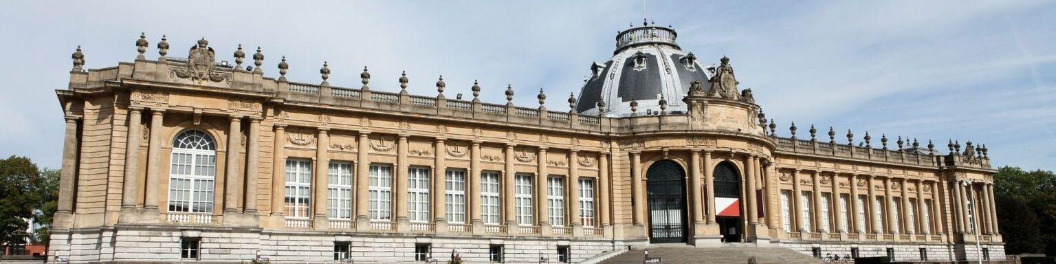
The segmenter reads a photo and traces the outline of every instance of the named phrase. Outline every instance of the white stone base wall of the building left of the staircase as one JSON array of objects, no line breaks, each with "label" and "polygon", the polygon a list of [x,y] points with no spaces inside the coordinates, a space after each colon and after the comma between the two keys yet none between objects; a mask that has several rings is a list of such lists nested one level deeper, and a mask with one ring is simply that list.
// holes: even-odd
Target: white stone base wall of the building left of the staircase
[{"label": "white stone base wall of the building left of the staircase", "polygon": [[69,263],[194,262],[181,258],[181,241],[200,241],[200,263],[249,263],[259,256],[270,263],[338,263],[335,244],[350,245],[355,263],[413,263],[415,247],[428,244],[439,263],[457,251],[465,263],[489,263],[492,245],[503,246],[505,263],[558,263],[558,247],[567,246],[571,262],[626,248],[621,241],[474,235],[362,234],[261,229],[103,228],[52,235],[50,261]]}]

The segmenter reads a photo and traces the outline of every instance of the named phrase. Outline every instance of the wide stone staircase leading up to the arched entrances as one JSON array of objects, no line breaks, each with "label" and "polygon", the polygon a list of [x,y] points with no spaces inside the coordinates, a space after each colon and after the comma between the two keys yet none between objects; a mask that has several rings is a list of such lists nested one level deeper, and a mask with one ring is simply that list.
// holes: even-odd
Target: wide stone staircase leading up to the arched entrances
[{"label": "wide stone staircase leading up to the arched entrances", "polygon": [[[744,247],[744,246],[723,246],[723,247],[693,247],[689,245],[668,246],[649,245],[650,258],[662,258],[662,264],[675,263],[748,263],[748,259],[755,257],[758,264],[821,264],[822,260],[811,256],[796,252],[792,249],[776,247]],[[640,264],[645,260],[645,250],[633,249],[614,256],[601,264]]]}]

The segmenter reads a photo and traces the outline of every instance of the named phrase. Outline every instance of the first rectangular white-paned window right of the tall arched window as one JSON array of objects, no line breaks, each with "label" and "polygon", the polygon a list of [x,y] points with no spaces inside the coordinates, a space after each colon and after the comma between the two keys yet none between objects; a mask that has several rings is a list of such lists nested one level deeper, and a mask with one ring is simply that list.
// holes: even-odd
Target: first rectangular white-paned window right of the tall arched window
[{"label": "first rectangular white-paned window right of the tall arched window", "polygon": [[286,218],[308,218],[312,205],[312,161],[286,161]]}]

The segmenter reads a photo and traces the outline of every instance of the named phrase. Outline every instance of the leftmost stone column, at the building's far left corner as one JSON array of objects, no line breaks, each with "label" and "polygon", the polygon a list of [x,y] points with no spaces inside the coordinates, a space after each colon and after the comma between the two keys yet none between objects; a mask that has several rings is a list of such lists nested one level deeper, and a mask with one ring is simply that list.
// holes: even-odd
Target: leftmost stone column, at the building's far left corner
[{"label": "leftmost stone column, at the building's far left corner", "polygon": [[59,202],[55,213],[56,228],[73,227],[73,195],[77,176],[77,119],[65,116],[65,135],[62,143],[62,171],[59,175]]}]

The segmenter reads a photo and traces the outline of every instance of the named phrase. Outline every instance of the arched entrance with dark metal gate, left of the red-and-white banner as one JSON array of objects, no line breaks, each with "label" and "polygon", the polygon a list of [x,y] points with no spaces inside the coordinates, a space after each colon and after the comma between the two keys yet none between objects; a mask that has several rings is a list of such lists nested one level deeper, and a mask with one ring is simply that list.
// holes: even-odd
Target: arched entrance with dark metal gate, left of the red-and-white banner
[{"label": "arched entrance with dark metal gate, left of the red-and-white banner", "polygon": [[645,172],[649,210],[649,243],[685,243],[685,171],[660,161]]}]

